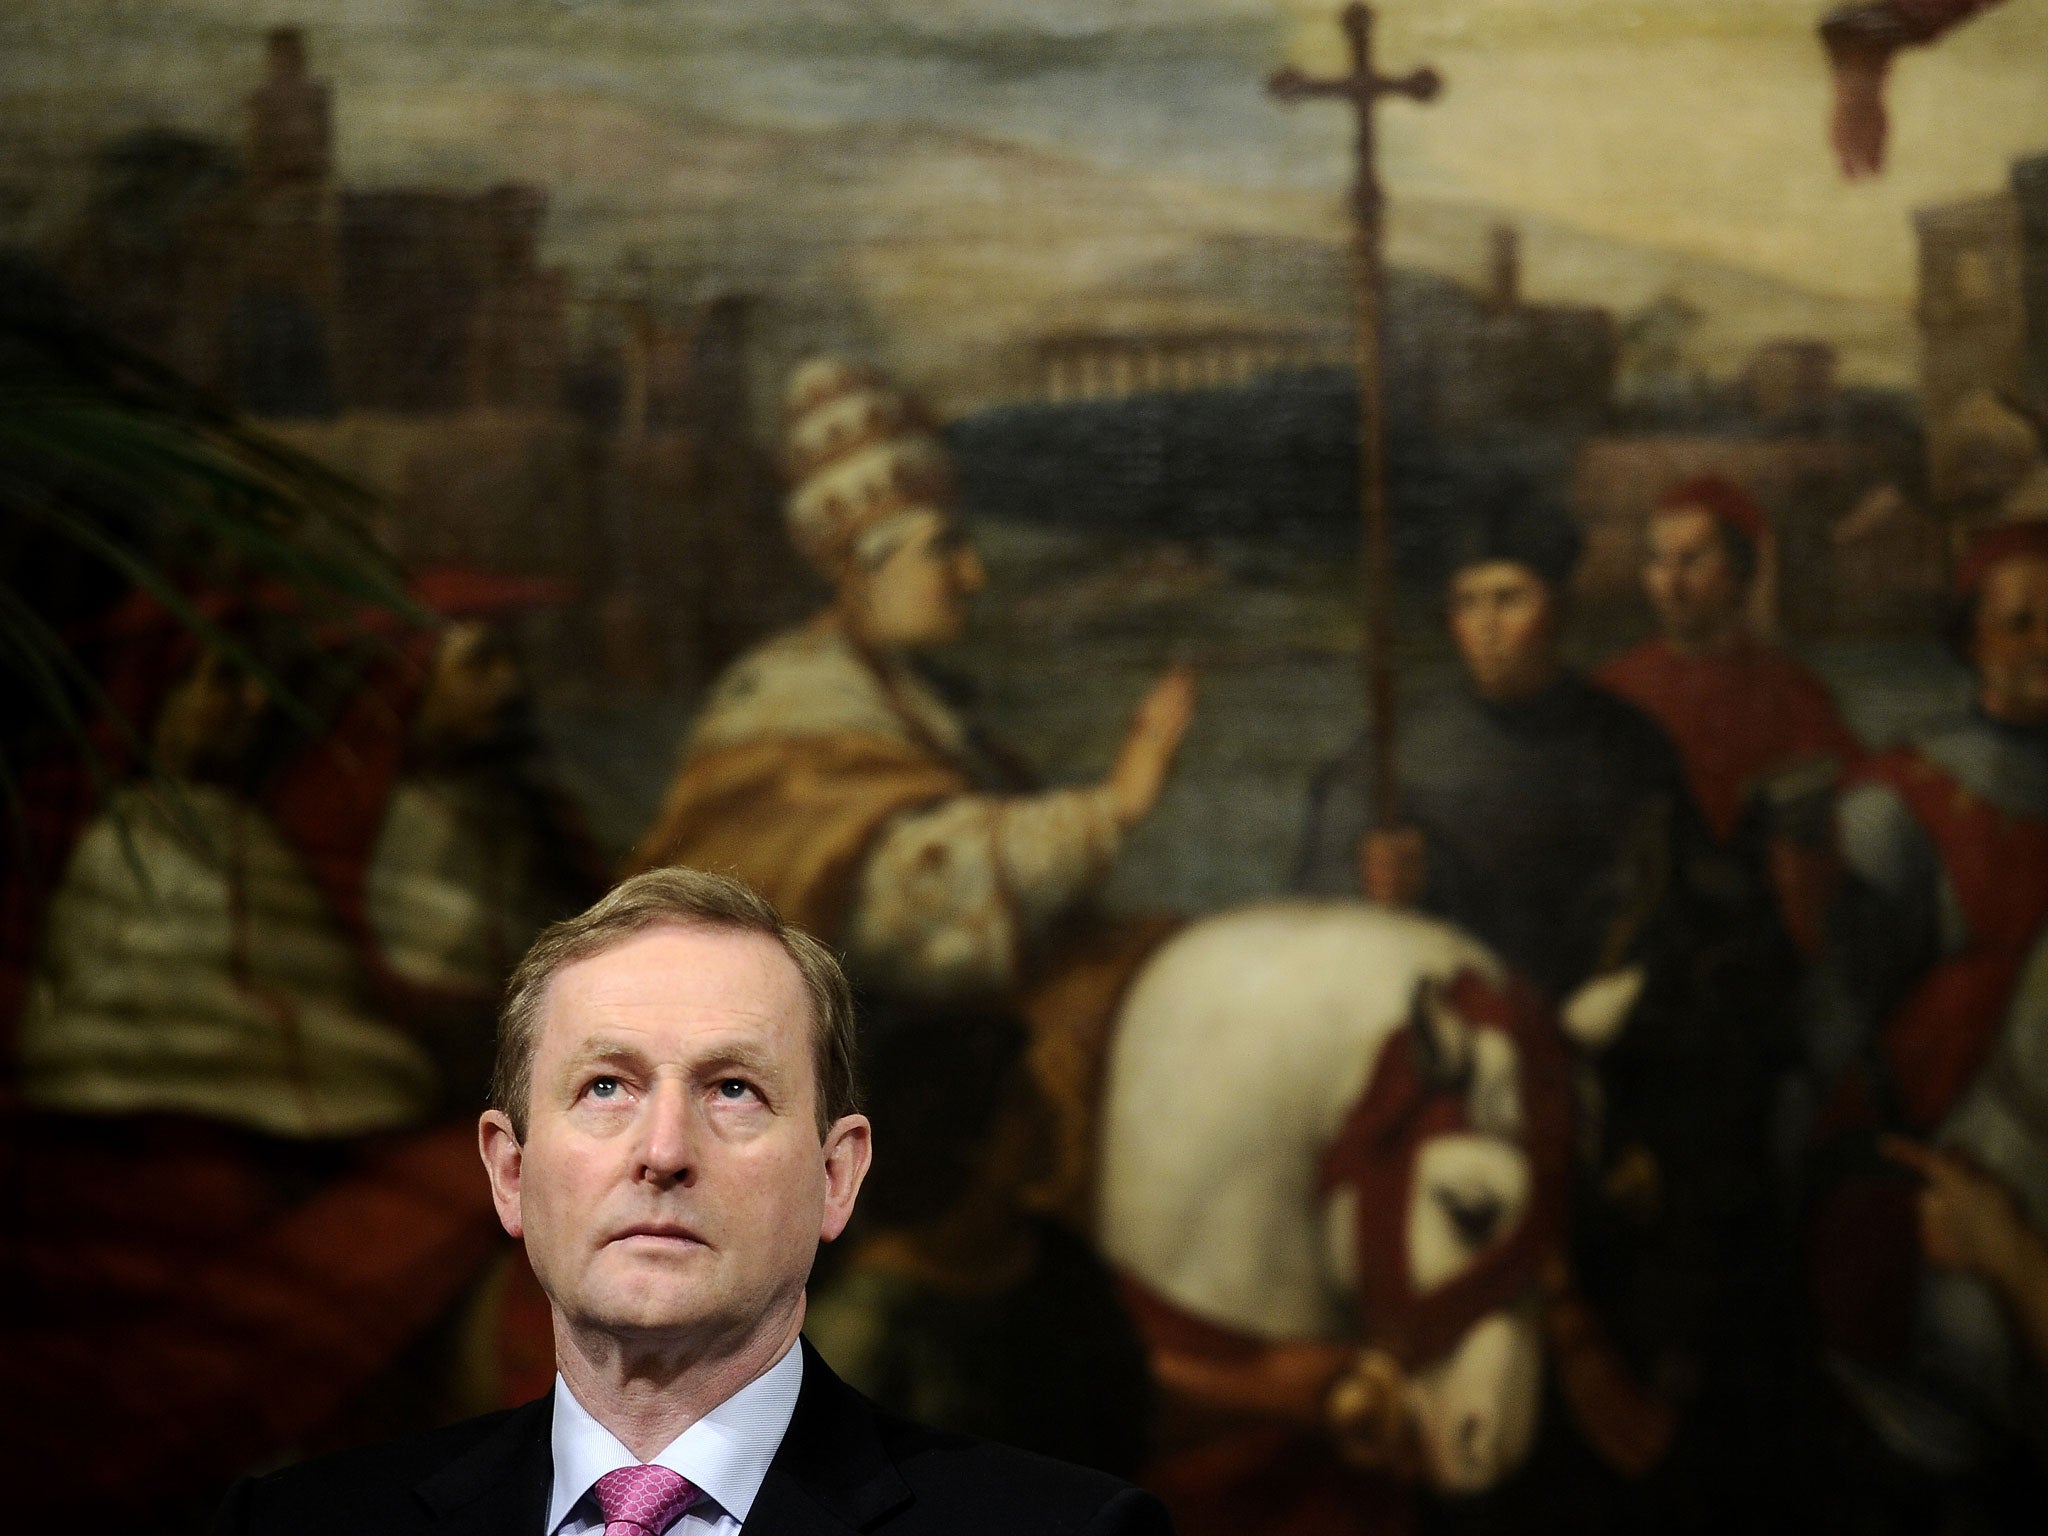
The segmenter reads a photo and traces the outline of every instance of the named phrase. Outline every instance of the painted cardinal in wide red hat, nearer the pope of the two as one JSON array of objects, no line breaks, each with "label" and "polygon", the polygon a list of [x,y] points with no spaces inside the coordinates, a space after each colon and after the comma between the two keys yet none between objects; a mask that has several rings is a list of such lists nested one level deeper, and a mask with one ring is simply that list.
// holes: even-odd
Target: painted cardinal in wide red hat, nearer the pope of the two
[{"label": "painted cardinal in wide red hat, nearer the pope of the two", "polygon": [[[604,889],[551,778],[512,621],[555,582],[442,567],[412,582],[440,623],[379,635],[334,727],[266,786],[356,950],[375,1006],[436,1057],[453,1104],[481,1102],[498,995],[549,922]],[[379,643],[383,641],[383,643]]]}]

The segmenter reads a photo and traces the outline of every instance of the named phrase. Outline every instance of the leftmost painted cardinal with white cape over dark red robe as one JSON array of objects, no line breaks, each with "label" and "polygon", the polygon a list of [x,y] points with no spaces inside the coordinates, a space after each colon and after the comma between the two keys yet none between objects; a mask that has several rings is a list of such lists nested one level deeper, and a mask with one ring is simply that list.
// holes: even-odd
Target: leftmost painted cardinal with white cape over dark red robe
[{"label": "leftmost painted cardinal with white cape over dark red robe", "polygon": [[[246,604],[201,606],[268,653]],[[0,1464],[35,1470],[25,1528],[90,1487],[111,1526],[164,1530],[375,1419],[498,1235],[473,1120],[440,1114],[430,1053],[258,799],[266,686],[158,604],[104,631],[131,727],[109,737],[154,776],[94,805],[61,791],[78,762],[47,764],[39,868],[8,870]]]}]

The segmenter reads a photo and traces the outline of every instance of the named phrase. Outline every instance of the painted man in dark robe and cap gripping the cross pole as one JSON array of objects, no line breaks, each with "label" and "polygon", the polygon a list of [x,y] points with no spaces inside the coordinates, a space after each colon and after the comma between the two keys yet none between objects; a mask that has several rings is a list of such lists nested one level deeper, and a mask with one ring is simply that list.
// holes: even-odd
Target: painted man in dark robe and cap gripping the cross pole
[{"label": "painted man in dark robe and cap gripping the cross pole", "polygon": [[1782,1440],[1761,1427],[1753,1380],[1772,1350],[1749,1319],[1769,1315],[1780,1270],[1763,1149],[1790,950],[1706,831],[1669,737],[1565,666],[1575,557],[1567,516],[1526,487],[1468,502],[1446,588],[1464,676],[1401,721],[1395,827],[1370,825],[1368,741],[1319,776],[1298,887],[1446,918],[1552,999],[1642,967],[1642,1001],[1587,1063],[1571,1264],[1681,1432],[1655,1468],[1602,1470],[1552,1444],[1499,1511],[1534,1497],[1599,1530],[1708,1520],[1726,1468],[1767,1477]]}]

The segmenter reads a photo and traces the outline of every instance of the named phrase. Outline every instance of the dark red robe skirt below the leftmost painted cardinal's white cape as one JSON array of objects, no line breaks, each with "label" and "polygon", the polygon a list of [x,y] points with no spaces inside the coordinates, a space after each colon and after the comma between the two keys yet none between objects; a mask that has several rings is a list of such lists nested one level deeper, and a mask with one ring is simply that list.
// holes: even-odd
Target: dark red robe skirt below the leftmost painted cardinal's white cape
[{"label": "dark red robe skirt below the leftmost painted cardinal's white cape", "polygon": [[[20,1116],[0,1397],[37,1475],[150,1520],[317,1442],[498,1245],[475,1124],[348,1145],[182,1116]],[[137,1526],[139,1528],[139,1526]]]}]

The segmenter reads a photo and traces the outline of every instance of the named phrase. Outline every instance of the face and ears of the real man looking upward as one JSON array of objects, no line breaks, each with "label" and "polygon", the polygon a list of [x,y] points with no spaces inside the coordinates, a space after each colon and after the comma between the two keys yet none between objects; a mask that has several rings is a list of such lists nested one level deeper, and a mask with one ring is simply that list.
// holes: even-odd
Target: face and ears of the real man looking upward
[{"label": "face and ears of the real man looking upward", "polygon": [[557,1329],[723,1354],[803,1319],[846,1227],[868,1122],[817,1130],[803,977],[766,936],[664,926],[563,967],[520,1145],[483,1161]]}]

